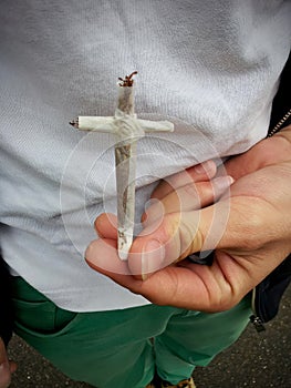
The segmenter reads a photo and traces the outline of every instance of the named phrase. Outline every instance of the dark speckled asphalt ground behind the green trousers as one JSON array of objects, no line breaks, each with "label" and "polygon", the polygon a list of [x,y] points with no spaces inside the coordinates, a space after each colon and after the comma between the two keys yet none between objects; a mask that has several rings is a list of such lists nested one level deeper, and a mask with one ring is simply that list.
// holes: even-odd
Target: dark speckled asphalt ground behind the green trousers
[{"label": "dark speckled asphalt ground behind the green trousers", "polygon": [[[291,286],[279,315],[257,333],[250,324],[240,339],[220,354],[207,368],[194,372],[197,388],[289,388],[291,387]],[[18,363],[10,388],[89,388],[72,381],[14,336],[10,357]],[[116,387],[118,388],[118,387]],[[128,387],[134,388],[134,387]]]}]

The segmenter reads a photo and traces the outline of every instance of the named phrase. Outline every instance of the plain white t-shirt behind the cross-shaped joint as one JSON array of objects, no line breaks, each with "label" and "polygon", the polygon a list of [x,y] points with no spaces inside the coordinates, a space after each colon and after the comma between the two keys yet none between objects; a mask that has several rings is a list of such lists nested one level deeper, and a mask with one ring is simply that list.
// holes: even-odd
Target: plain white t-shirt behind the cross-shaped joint
[{"label": "plain white t-shirt behind the cross-shaped joint", "polygon": [[146,304],[83,259],[94,218],[116,213],[114,137],[69,121],[113,115],[117,78],[138,71],[137,115],[175,124],[138,143],[138,219],[160,177],[266,136],[290,6],[1,1],[0,244],[13,272],[71,310]]}]

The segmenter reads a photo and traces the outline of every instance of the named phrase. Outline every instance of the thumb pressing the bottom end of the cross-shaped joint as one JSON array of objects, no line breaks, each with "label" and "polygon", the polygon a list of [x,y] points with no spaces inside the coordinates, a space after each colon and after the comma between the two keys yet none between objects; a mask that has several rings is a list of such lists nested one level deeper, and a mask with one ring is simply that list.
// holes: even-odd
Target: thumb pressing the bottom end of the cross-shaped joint
[{"label": "thumb pressing the bottom end of the cross-shaped joint", "polygon": [[133,242],[128,255],[131,273],[142,274],[145,279],[193,253],[216,248],[227,227],[228,216],[227,200],[200,211],[166,214]]}]

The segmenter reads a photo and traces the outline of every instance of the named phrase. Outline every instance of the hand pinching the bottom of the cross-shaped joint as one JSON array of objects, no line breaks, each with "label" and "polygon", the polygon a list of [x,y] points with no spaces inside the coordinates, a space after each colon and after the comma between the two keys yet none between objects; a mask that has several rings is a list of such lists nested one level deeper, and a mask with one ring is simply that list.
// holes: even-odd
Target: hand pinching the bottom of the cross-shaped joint
[{"label": "hand pinching the bottom of the cross-shaped joint", "polygon": [[[206,194],[204,200],[207,177],[195,169],[188,171],[191,183],[184,172],[172,176],[172,185],[162,182],[154,191],[153,197],[163,202],[166,214],[160,223],[149,208],[147,233],[143,231],[134,241],[128,264],[117,256],[114,216],[97,217],[95,228],[101,238],[86,251],[89,265],[158,305],[204,312],[235,306],[291,252],[291,126],[231,159],[226,170],[236,181],[230,187],[224,235],[212,247],[216,254],[211,266],[183,259],[201,249],[214,212],[222,214],[229,202],[222,196],[197,210],[194,197],[191,208],[189,193],[195,187],[200,187],[197,192],[202,206],[211,197]],[[152,246],[146,246],[150,241]],[[157,270],[162,262],[166,267]],[[145,268],[153,274],[143,280],[138,273]]]}]

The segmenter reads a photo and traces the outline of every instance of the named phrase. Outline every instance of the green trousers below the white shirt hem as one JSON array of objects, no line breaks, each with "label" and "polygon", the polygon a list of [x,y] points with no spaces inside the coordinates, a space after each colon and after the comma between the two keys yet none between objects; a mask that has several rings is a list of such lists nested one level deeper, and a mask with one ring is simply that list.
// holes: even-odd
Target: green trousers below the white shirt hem
[{"label": "green trousers below the white shirt hem", "polygon": [[19,277],[13,298],[15,333],[65,375],[98,388],[144,388],[155,369],[177,384],[231,345],[251,314],[248,297],[218,314],[155,305],[72,313]]}]

